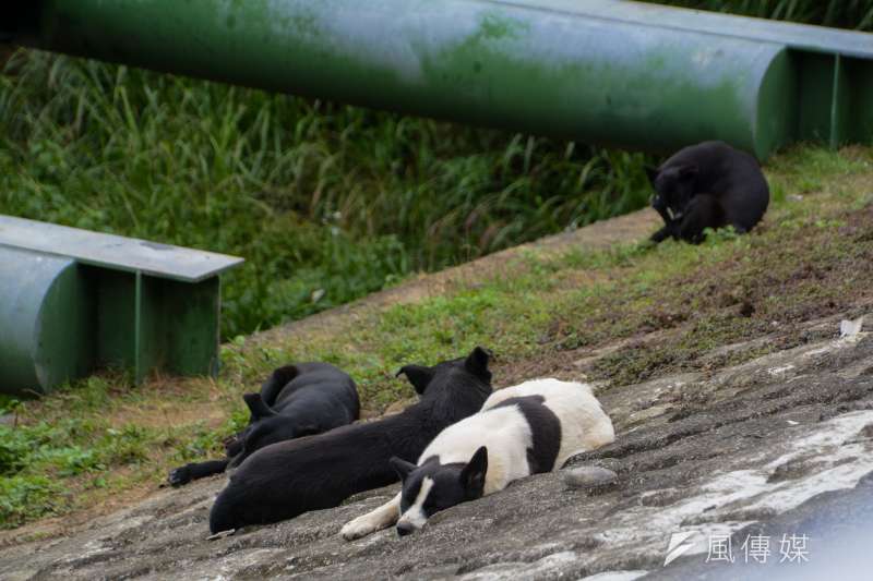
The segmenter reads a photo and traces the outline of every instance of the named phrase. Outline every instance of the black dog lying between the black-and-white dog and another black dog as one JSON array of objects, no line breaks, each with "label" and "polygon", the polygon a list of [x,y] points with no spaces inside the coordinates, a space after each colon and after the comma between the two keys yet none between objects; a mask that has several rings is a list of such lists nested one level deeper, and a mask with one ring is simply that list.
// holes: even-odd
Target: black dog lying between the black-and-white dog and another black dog
[{"label": "black dog lying between the black-and-white dog and another black dog", "polygon": [[396,482],[391,457],[418,459],[444,427],[479,411],[491,395],[488,360],[477,347],[433,367],[406,365],[397,375],[406,374],[421,399],[402,413],[259,450],[218,495],[210,530],[290,519]]}]

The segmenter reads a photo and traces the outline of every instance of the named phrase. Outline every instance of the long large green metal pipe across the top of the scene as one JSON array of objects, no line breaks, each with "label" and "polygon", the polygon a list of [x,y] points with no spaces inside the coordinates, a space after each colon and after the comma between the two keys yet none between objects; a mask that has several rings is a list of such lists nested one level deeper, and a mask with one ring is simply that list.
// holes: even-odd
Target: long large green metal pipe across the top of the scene
[{"label": "long large green metal pipe across the top of the scene", "polygon": [[[821,99],[800,98],[806,61],[792,38],[809,35],[765,28],[743,37],[744,19],[731,16],[716,16],[731,19],[731,28],[708,20],[697,32],[693,12],[614,0],[20,7],[11,31],[20,44],[514,131],[659,150],[721,138],[758,157],[797,137],[842,138],[830,112],[833,68],[815,73],[825,84]],[[869,83],[859,90],[859,99],[873,95]],[[827,112],[804,112],[811,107]]]}]

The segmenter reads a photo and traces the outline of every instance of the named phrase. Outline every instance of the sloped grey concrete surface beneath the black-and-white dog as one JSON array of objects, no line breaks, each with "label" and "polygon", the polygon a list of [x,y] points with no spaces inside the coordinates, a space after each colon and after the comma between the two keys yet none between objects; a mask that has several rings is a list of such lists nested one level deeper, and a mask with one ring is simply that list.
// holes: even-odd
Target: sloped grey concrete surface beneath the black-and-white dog
[{"label": "sloped grey concrete surface beneath the black-and-white dog", "polygon": [[[601,388],[617,440],[567,464],[618,473],[599,493],[571,488],[561,472],[537,475],[418,534],[342,540],[345,522],[396,492],[387,487],[207,541],[216,477],[162,489],[71,536],[0,549],[0,578],[869,579],[873,552],[852,543],[869,541],[873,522],[873,337],[840,339],[838,319],[813,325],[833,338]],[[689,533],[689,547],[665,568],[673,533]],[[745,562],[751,534],[770,538],[768,562]],[[806,535],[806,560],[778,562],[789,534]],[[717,562],[713,540],[728,537],[734,560]]]}]

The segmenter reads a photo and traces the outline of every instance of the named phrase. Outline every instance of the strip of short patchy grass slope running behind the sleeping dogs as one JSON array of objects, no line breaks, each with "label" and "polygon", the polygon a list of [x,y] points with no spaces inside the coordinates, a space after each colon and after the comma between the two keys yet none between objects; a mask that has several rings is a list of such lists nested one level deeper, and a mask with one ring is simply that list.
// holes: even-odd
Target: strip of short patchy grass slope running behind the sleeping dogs
[{"label": "strip of short patchy grass slope running behind the sleeping dogs", "polygon": [[[239,339],[223,349],[215,382],[156,378],[131,388],[105,375],[27,402],[17,428],[0,428],[0,522],[106,510],[153,489],[174,464],[219,453],[222,437],[246,421],[239,395],[288,361],[348,370],[374,413],[411,396],[393,377],[403,363],[475,344],[497,353],[497,382],[506,385],[581,373],[567,371],[576,368],[570,362],[625,339],[584,370],[619,385],[808,340],[793,323],[851,310],[873,288],[873,148],[799,147],[767,171],[774,203],[751,235],[719,234],[701,246],[528,249],[439,296],[363,307],[268,342]],[[702,358],[756,337],[769,340]]]}]

